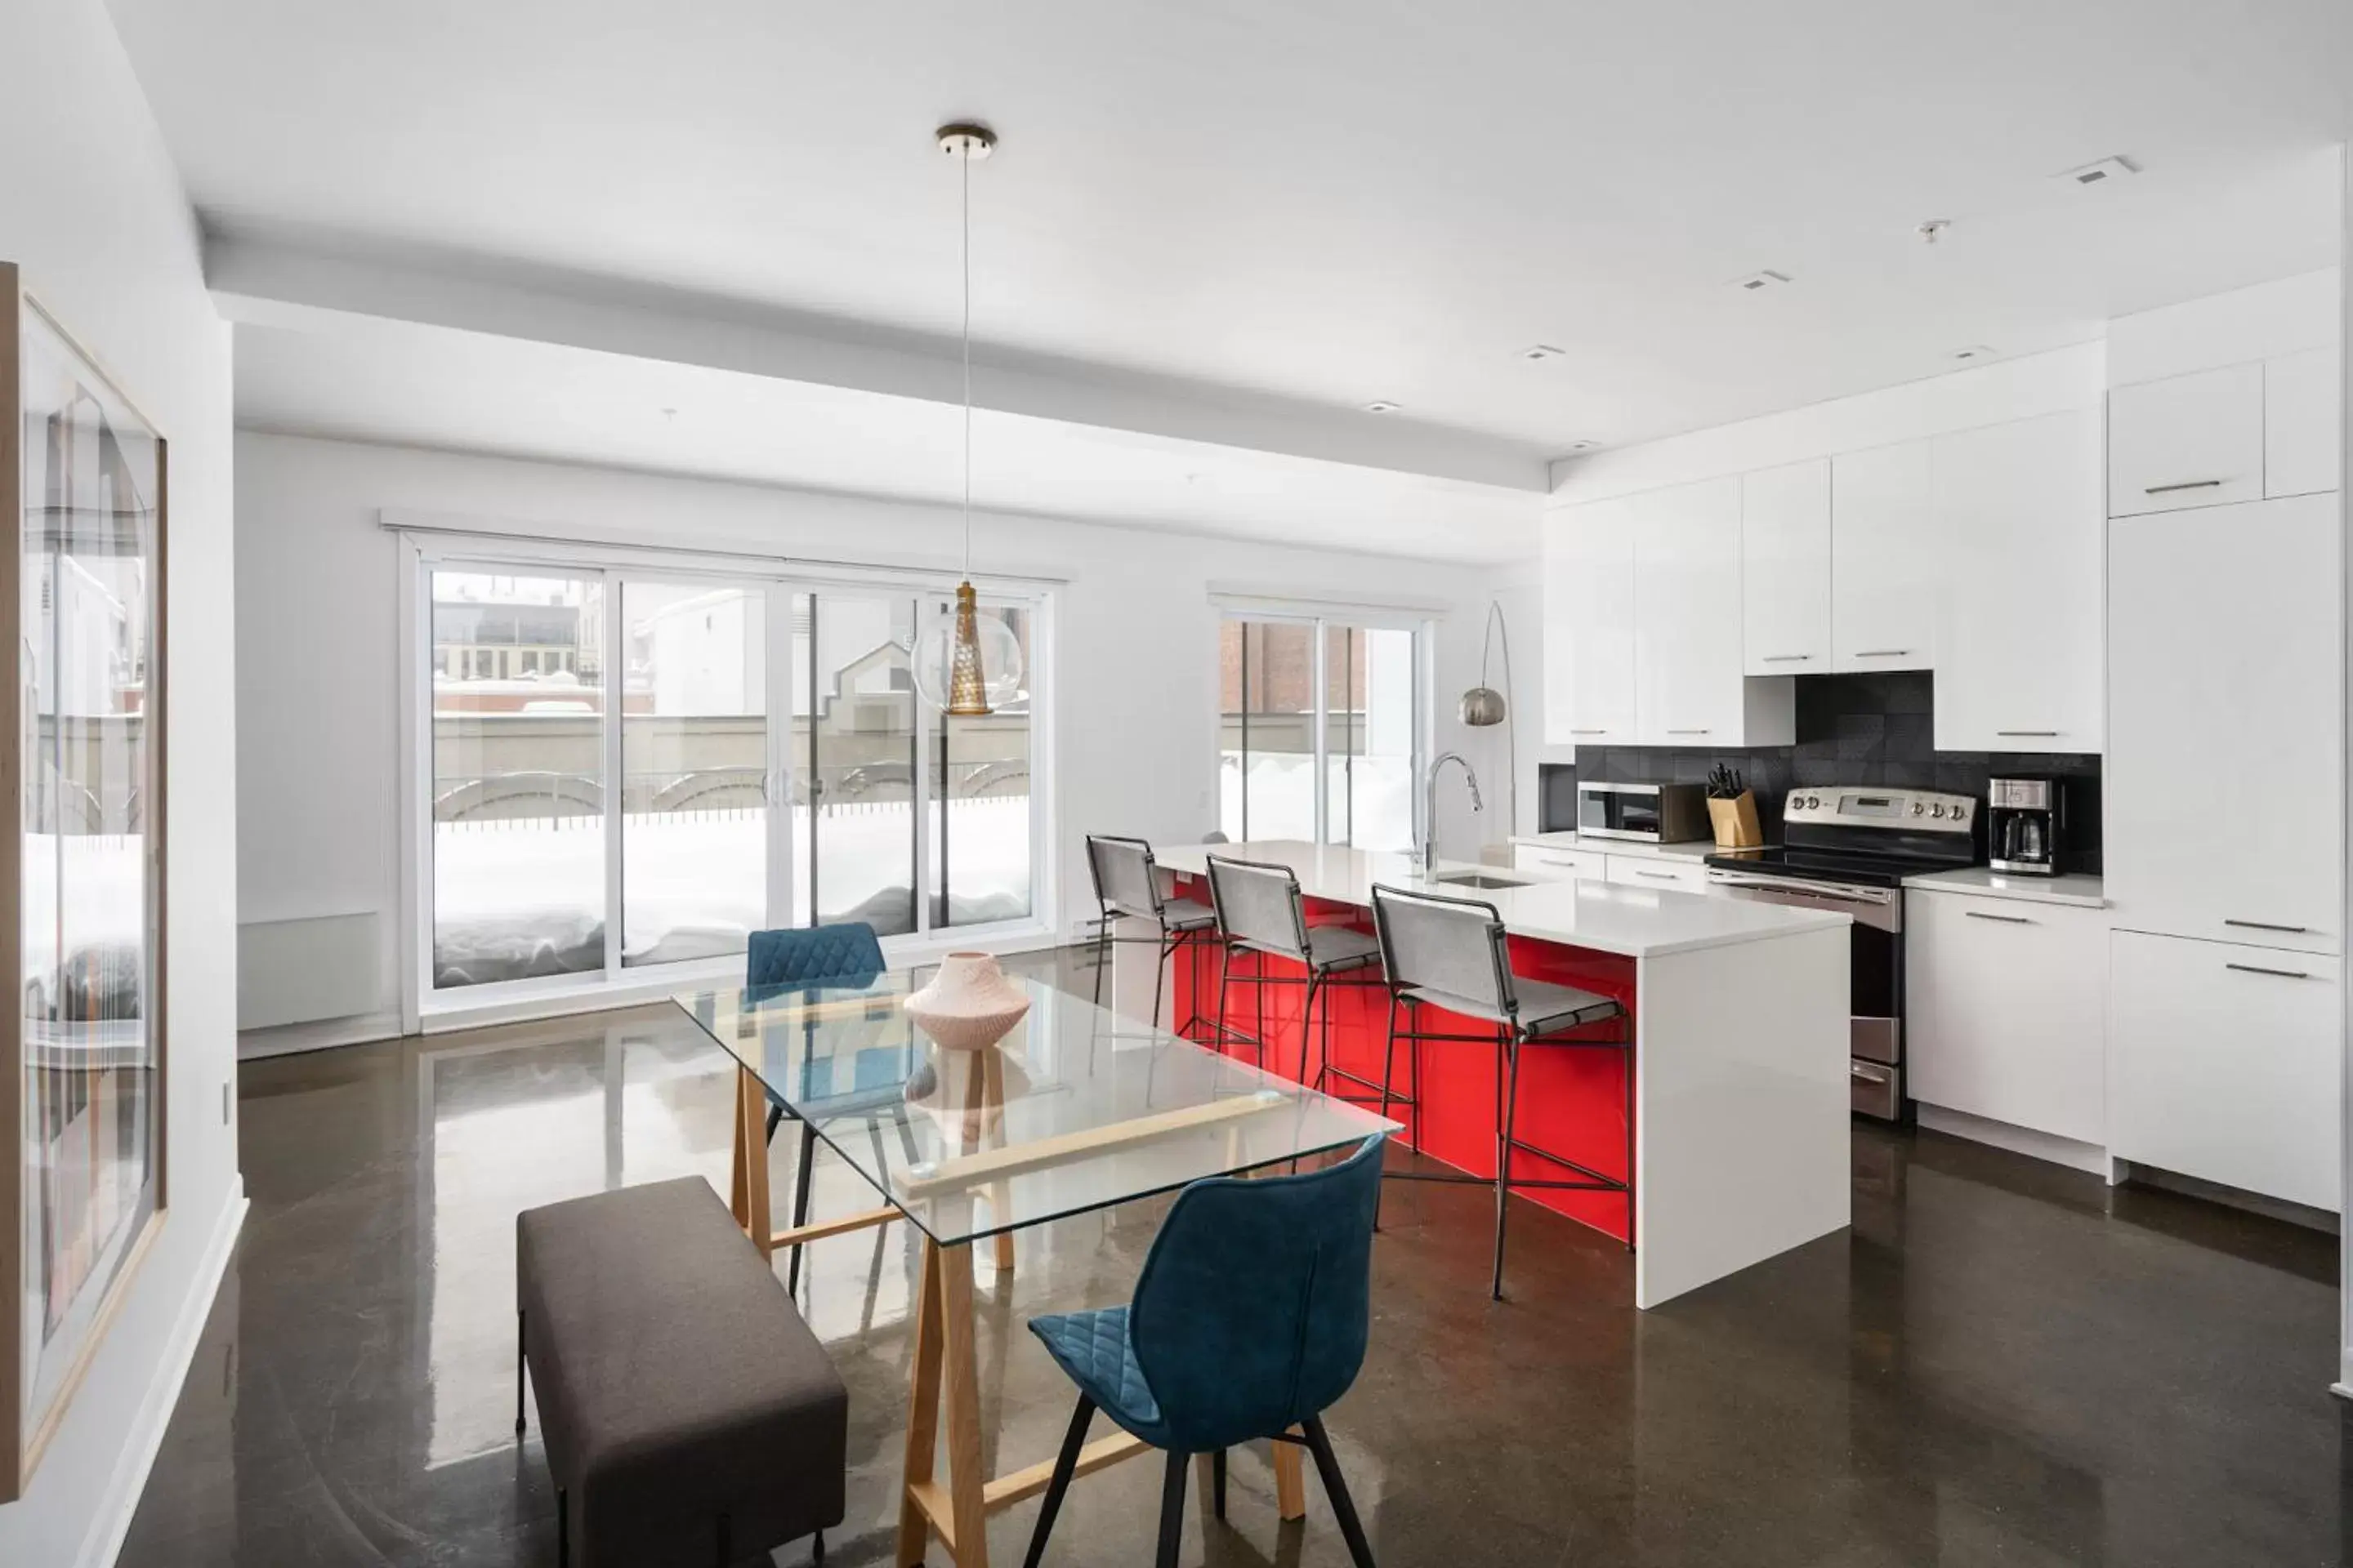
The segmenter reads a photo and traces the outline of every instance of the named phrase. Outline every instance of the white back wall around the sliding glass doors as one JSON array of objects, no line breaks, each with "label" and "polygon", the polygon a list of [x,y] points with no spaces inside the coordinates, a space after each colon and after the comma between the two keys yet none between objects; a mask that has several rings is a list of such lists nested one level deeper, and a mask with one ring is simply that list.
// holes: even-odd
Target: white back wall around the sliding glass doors
[{"label": "white back wall around the sliding glass doors", "polygon": [[[398,562],[381,510],[929,567],[953,567],[960,548],[941,508],[240,433],[238,917],[249,940],[278,940],[254,926],[374,914],[384,938],[374,980],[306,999],[308,1018],[372,1020],[400,999]],[[1094,912],[1082,835],[1195,842],[1217,825],[1209,583],[1457,607],[1438,632],[1438,745],[1482,771],[1501,757],[1492,731],[1454,719],[1478,672],[1482,569],[1035,517],[981,517],[974,548],[981,569],[1068,578],[1056,623],[1064,926]],[[1442,802],[1449,856],[1504,837],[1501,811],[1473,820],[1459,783]],[[278,1001],[247,997],[247,1011],[289,1018]]]}]

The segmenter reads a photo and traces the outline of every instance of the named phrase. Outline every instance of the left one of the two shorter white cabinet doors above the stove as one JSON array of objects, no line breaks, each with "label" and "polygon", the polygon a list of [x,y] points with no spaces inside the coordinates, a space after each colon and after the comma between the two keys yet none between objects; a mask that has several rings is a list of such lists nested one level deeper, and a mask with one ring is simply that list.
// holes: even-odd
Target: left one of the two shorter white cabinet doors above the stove
[{"label": "left one of the two shorter white cabinet doors above the stove", "polygon": [[1741,644],[1748,675],[1831,668],[1831,461],[1741,477]]}]

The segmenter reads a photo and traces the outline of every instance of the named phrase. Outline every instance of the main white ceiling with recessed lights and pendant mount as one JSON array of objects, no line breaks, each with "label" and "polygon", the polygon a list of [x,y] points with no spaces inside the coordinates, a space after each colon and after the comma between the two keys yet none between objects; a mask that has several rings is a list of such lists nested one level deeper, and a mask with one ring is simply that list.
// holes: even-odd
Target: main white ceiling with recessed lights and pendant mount
[{"label": "main white ceiling with recessed lights and pendant mount", "polygon": [[2353,42],[2344,0],[111,5],[216,230],[934,339],[929,132],[981,115],[984,353],[1537,454],[2327,266]]}]

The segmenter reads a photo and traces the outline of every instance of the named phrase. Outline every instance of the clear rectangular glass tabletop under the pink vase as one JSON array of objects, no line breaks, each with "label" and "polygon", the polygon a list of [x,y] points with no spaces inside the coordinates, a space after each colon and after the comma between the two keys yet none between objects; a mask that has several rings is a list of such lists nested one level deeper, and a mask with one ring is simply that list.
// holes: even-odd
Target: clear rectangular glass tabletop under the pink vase
[{"label": "clear rectangular glass tabletop under the pink vase", "polygon": [[915,1025],[904,973],[675,1001],[944,1246],[1398,1126],[1085,997],[1014,983],[1028,1016],[979,1051],[939,1046]]}]

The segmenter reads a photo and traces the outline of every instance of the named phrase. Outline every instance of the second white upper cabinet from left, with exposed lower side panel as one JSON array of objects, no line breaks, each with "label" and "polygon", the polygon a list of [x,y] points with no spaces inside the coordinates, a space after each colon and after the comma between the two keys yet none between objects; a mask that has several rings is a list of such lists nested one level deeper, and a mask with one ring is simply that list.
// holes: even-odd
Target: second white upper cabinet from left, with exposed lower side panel
[{"label": "second white upper cabinet from left, with exposed lower side panel", "polygon": [[1741,482],[1635,496],[1633,708],[1642,745],[1788,745],[1795,684],[1741,661]]}]

